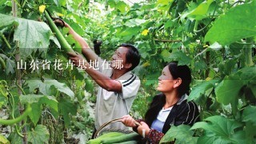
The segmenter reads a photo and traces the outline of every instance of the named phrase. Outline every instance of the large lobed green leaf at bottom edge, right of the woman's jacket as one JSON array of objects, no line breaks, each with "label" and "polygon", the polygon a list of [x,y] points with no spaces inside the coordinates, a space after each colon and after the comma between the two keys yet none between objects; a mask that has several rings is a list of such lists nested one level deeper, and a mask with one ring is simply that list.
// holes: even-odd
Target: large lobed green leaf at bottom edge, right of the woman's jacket
[{"label": "large lobed green leaf at bottom edge, right of the woman's jacket", "polygon": [[242,127],[242,123],[230,120],[222,116],[212,116],[205,119],[206,122],[197,122],[190,130],[203,129],[205,133],[198,138],[198,143],[240,143],[244,131],[236,129]]}]

